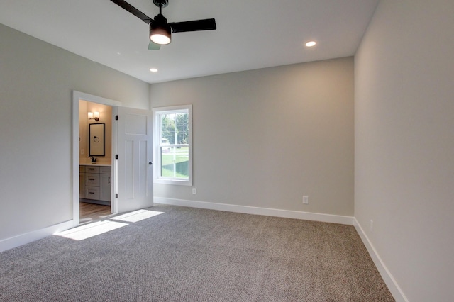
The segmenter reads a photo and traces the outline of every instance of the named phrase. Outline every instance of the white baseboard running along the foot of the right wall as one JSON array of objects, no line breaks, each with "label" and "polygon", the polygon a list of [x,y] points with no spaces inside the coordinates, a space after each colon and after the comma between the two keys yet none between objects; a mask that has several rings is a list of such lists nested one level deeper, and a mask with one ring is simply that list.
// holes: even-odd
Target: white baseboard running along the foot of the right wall
[{"label": "white baseboard running along the foot of the right wall", "polygon": [[375,267],[377,267],[378,272],[380,272],[380,275],[382,275],[384,283],[388,286],[388,289],[389,291],[391,291],[394,299],[398,302],[408,302],[409,300],[404,295],[404,292],[399,287],[399,284],[397,284],[397,281],[394,279],[391,272],[389,272],[386,265],[384,265],[382,258],[380,258],[380,255],[378,255],[377,250],[375,250],[375,247],[372,245],[366,233],[362,229],[360,223],[358,223],[358,220],[356,220],[355,217],[353,218],[353,225],[360,235],[362,243],[364,243],[367,252],[369,252],[370,257],[372,257],[372,261],[375,263]]}]

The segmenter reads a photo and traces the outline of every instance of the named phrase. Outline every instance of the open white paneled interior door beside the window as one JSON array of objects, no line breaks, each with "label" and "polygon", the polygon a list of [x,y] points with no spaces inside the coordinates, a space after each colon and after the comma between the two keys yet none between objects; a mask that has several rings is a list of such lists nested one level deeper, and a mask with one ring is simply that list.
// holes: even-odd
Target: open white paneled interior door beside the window
[{"label": "open white paneled interior door beside the window", "polygon": [[116,107],[116,211],[153,206],[153,113]]}]

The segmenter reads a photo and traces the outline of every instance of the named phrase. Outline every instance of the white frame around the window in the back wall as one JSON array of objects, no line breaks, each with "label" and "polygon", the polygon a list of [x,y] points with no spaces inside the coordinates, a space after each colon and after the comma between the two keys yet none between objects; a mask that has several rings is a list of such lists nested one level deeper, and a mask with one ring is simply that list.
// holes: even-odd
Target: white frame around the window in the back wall
[{"label": "white frame around the window in the back wall", "polygon": [[[188,179],[175,179],[161,177],[161,157],[160,157],[160,138],[161,124],[160,115],[169,113],[188,113],[188,153],[189,153],[189,177]],[[168,106],[153,108],[153,157],[154,157],[154,182],[155,184],[177,184],[182,186],[192,186],[192,105]]]}]

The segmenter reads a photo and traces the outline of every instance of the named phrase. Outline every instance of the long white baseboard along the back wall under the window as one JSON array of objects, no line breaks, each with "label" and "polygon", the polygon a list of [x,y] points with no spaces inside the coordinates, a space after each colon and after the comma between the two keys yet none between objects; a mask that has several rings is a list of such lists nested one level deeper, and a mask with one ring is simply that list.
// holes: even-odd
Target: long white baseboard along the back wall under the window
[{"label": "long white baseboard along the back wall under the window", "polygon": [[206,208],[209,210],[228,211],[263,216],[275,216],[282,218],[294,218],[323,223],[340,223],[343,225],[353,225],[354,218],[350,216],[339,216],[322,213],[309,213],[301,211],[279,210],[277,208],[259,208],[255,206],[238,206],[226,203],[212,203],[205,201],[189,201],[184,199],[155,197],[155,203],[171,204],[174,206],[188,206],[190,208]]}]

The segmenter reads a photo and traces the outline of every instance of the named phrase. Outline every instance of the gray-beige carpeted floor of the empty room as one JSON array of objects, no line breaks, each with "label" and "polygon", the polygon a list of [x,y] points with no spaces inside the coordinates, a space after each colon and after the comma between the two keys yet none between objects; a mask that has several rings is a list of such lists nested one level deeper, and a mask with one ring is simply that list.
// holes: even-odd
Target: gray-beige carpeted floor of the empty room
[{"label": "gray-beige carpeted floor of the empty room", "polygon": [[353,226],[147,210],[1,253],[0,301],[394,301]]}]

